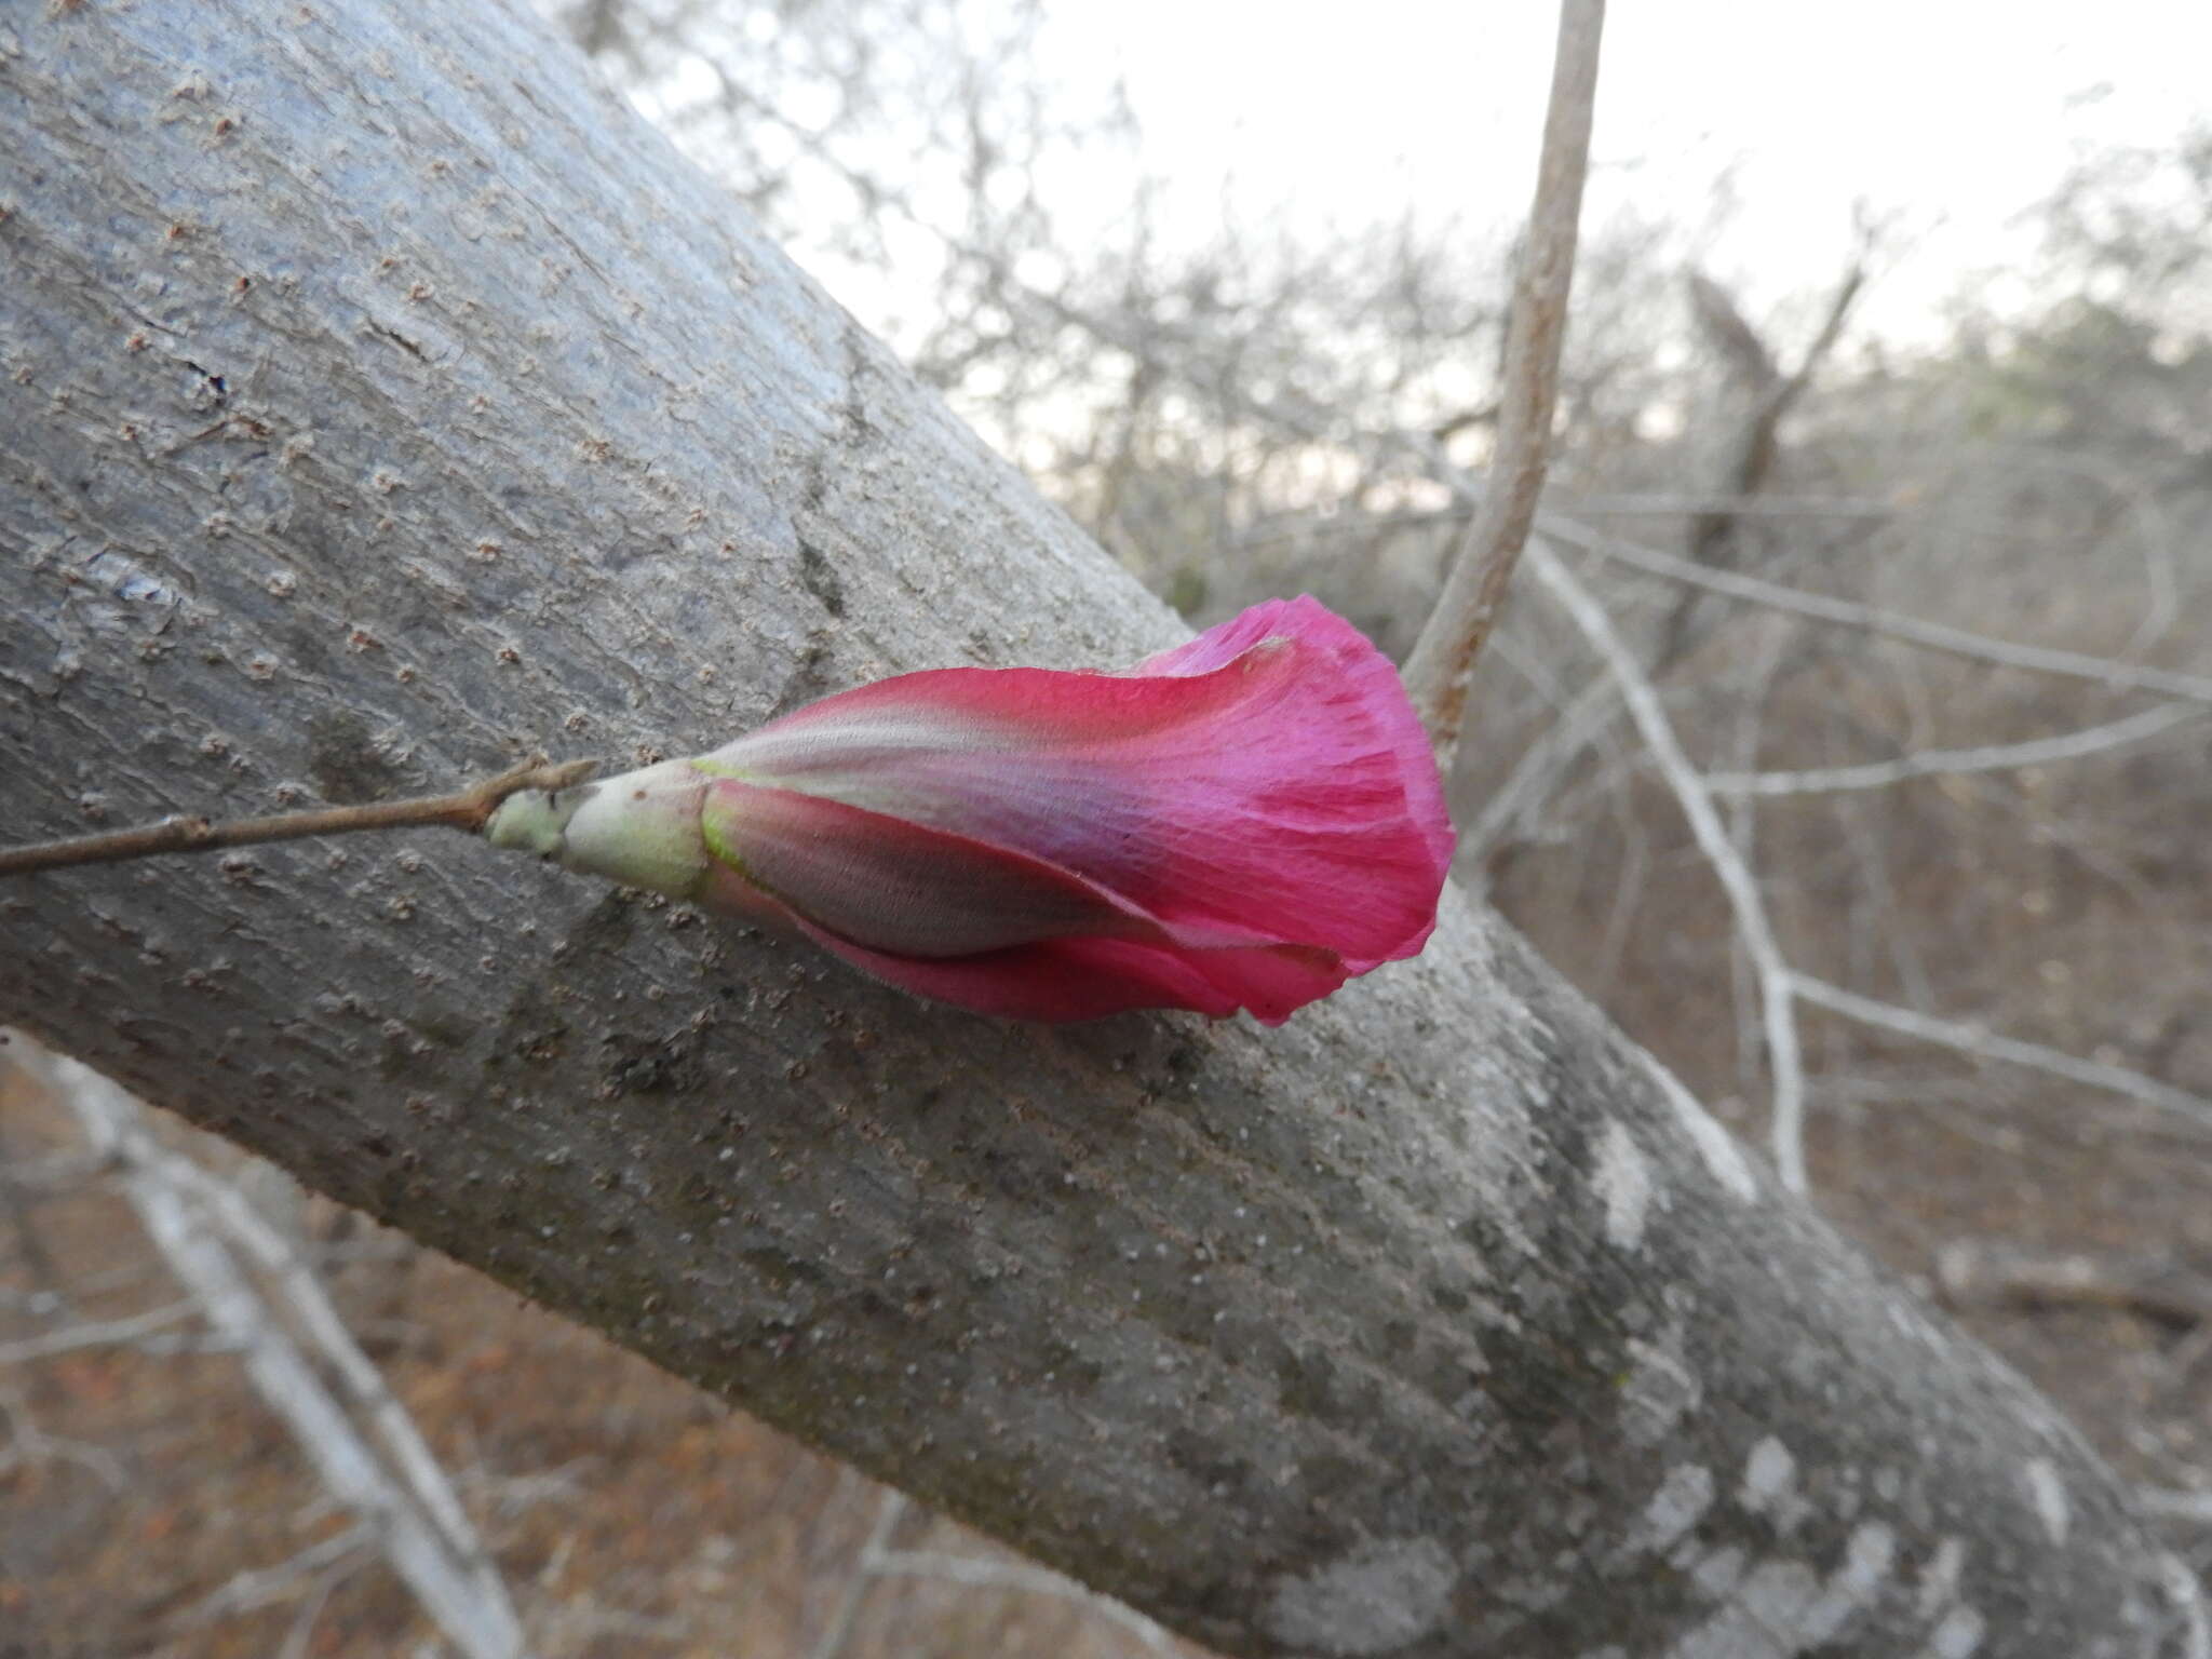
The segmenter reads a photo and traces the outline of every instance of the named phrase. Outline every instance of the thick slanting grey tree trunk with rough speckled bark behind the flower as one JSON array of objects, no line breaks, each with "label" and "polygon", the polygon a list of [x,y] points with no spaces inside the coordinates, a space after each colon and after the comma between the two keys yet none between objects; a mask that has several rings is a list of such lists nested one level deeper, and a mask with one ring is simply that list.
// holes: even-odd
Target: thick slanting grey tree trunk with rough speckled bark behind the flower
[{"label": "thick slanting grey tree trunk with rough speckled bark behind the flower", "polygon": [[[513,7],[13,0],[0,155],[9,838],[1179,635]],[[0,1018],[1230,1652],[2203,1650],[2079,1438],[1458,898],[1272,1033],[442,832],[0,929]]]}]

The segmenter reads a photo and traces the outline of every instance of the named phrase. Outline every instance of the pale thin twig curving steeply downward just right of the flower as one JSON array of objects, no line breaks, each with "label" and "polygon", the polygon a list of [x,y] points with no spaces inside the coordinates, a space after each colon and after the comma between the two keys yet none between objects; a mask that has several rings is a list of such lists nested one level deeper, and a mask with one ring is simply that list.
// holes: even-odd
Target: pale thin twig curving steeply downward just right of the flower
[{"label": "pale thin twig curving steeply downward just right of the flower", "polygon": [[1690,757],[1683,754],[1681,739],[1674,737],[1674,726],[1659,703],[1659,690],[1628,650],[1628,644],[1613,626],[1613,617],[1606,615],[1606,608],[1590,597],[1590,591],[1575,580],[1566,562],[1542,540],[1528,549],[1528,571],[1551,591],[1566,615],[1573,617],[1584,639],[1590,641],[1590,648],[1613,672],[1615,684],[1621,688],[1621,701],[1628,703],[1628,717],[1644,737],[1644,748],[1652,752],[1652,761],[1657,761],[1661,776],[1674,792],[1683,818],[1690,821],[1697,849],[1705,854],[1705,863],[1712,865],[1712,874],[1721,880],[1721,891],[1728,894],[1728,905],[1736,914],[1736,933],[1743,938],[1743,953],[1759,975],[1767,1064],[1774,1071],[1774,1170],[1792,1192],[1805,1192],[1805,1062],[1798,1051],[1796,1009],[1792,1006],[1796,975],[1792,975],[1781,945],[1774,940],[1765,900],[1759,896],[1759,880],[1745,867],[1743,858],[1736,856],[1736,845],[1730,841],[1728,827],[1712,805],[1712,794],[1705,790],[1703,779],[1699,779],[1697,768],[1690,765]]}]

